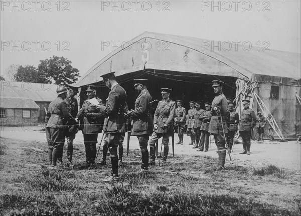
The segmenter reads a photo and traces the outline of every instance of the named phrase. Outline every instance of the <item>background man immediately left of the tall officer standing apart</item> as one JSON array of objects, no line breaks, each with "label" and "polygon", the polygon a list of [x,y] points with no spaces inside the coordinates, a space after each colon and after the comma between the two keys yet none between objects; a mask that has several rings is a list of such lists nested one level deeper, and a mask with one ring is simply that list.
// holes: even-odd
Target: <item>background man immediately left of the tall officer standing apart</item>
[{"label": "background man immediately left of the tall officer standing apart", "polygon": [[209,132],[208,132],[208,126],[211,119],[211,105],[210,103],[205,103],[205,109],[201,116],[199,117],[202,121],[200,131],[201,131],[201,138],[200,138],[200,147],[197,151],[203,151],[204,150],[204,144],[205,144],[205,152],[208,151],[209,148]]}]

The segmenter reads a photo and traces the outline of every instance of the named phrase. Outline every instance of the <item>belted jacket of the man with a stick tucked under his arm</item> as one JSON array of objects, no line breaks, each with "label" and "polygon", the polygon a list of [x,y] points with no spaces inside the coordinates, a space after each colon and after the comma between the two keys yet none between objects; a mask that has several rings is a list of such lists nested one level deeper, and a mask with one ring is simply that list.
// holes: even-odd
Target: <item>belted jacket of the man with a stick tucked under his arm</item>
[{"label": "belted jacket of the man with a stick tucked under his arm", "polygon": [[147,89],[143,89],[135,101],[135,111],[131,113],[134,120],[132,135],[151,135],[153,132],[153,119],[150,115],[150,108],[152,107],[149,102],[152,101],[152,96]]}]

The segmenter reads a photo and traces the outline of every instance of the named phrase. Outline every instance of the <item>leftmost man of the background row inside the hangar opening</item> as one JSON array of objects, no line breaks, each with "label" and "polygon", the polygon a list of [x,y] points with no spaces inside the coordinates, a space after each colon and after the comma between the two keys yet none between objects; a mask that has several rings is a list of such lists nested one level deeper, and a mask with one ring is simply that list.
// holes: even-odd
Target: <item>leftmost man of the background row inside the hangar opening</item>
[{"label": "leftmost man of the background row inside the hangar opening", "polygon": [[176,104],[178,108],[176,108],[175,110],[175,128],[176,131],[178,131],[178,137],[179,137],[179,141],[176,144],[183,145],[186,110],[184,107],[182,107],[182,100],[177,100]]}]

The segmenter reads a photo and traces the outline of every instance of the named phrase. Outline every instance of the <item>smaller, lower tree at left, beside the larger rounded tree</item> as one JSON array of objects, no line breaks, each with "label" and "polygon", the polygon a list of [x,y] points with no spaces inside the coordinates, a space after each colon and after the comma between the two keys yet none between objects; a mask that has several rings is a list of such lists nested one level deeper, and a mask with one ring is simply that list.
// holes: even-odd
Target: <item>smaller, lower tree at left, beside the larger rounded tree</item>
[{"label": "smaller, lower tree at left, beside the larger rounded tree", "polygon": [[14,75],[14,80],[19,82],[34,82],[34,83],[47,83],[45,77],[41,76],[38,69],[34,66],[26,65],[25,67],[19,66],[17,73]]}]

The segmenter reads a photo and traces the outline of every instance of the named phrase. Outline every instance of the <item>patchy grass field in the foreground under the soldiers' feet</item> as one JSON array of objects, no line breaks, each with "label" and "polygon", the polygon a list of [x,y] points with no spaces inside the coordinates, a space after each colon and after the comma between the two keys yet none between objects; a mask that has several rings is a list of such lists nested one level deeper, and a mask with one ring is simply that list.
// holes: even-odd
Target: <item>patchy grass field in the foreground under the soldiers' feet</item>
[{"label": "patchy grass field in the foreground under the soldiers' feet", "polygon": [[301,214],[300,173],[272,164],[217,172],[217,156],[176,155],[140,174],[134,150],[119,169],[123,183],[107,184],[110,163],[86,170],[83,145],[74,146],[75,168],[60,171],[47,168],[46,142],[0,141],[1,215]]}]

